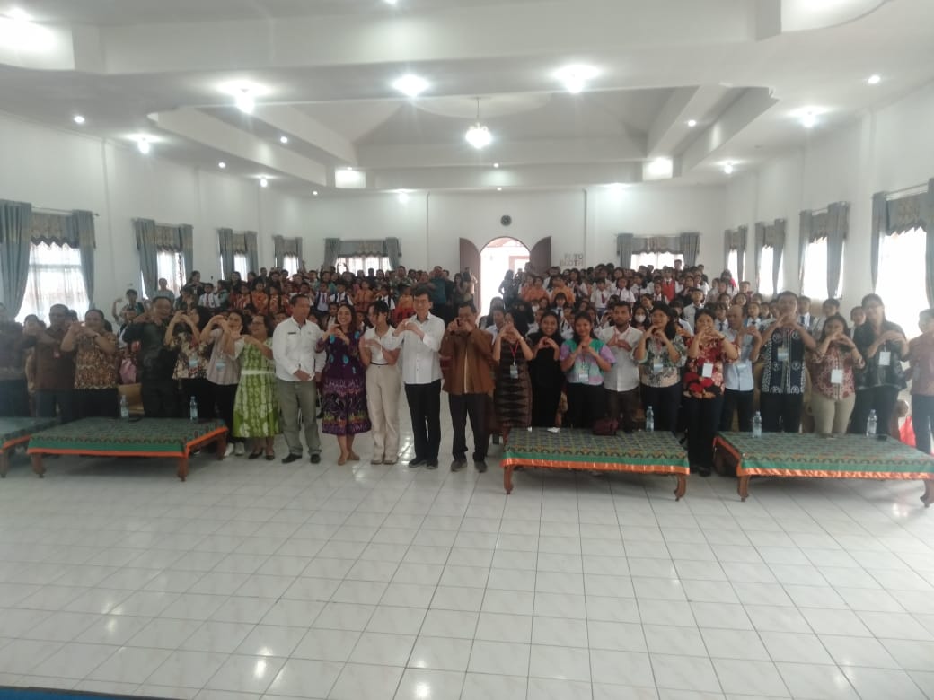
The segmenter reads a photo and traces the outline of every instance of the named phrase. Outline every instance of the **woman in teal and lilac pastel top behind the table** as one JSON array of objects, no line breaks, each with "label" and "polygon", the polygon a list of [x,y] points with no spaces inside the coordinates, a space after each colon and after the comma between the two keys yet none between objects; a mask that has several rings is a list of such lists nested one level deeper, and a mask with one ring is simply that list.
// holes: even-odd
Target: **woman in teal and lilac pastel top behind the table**
[{"label": "woman in teal and lilac pastel top behind the table", "polygon": [[589,315],[574,316],[573,335],[561,345],[560,359],[568,382],[567,419],[572,427],[593,427],[606,413],[603,374],[610,371],[616,357],[594,335]]}]

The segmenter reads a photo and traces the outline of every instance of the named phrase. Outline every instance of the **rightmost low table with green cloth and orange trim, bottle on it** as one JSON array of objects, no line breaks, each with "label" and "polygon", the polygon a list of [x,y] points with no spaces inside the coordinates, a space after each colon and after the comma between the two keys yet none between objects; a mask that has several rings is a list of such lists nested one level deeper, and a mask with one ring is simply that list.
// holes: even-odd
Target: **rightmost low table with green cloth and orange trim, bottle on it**
[{"label": "rightmost low table with green cloth and orange trim, bottle on it", "polygon": [[751,476],[817,479],[901,479],[925,483],[921,501],[934,502],[934,457],[888,436],[814,433],[717,433],[715,448],[736,464],[740,498],[749,496]]}]

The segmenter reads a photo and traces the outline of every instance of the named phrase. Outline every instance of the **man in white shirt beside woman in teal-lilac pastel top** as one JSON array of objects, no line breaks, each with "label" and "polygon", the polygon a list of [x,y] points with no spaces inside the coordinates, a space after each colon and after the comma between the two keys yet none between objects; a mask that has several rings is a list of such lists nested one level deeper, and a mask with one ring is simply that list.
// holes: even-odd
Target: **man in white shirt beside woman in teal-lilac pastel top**
[{"label": "man in white shirt beside woman in teal-lilac pastel top", "polygon": [[597,331],[597,337],[606,343],[616,357],[613,368],[603,375],[606,389],[607,412],[613,420],[621,420],[623,430],[635,429],[639,412],[639,365],[632,359],[632,348],[642,338],[642,331],[630,326],[632,309],[626,301],[617,301],[613,307],[613,325]]}]

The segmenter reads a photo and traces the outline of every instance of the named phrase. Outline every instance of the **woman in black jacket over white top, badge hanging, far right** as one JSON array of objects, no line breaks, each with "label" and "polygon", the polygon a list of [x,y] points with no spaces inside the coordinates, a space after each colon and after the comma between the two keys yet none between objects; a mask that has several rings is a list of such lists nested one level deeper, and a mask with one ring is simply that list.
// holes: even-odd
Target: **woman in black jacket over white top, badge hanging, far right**
[{"label": "woman in black jacket over white top, badge hanging, far right", "polygon": [[889,432],[899,391],[907,386],[901,358],[908,355],[908,340],[898,324],[885,320],[885,305],[877,294],[867,294],[862,301],[866,323],[853,333],[853,341],[866,367],[856,372],[856,406],[850,432],[866,432],[870,411],[876,412],[877,430]]}]

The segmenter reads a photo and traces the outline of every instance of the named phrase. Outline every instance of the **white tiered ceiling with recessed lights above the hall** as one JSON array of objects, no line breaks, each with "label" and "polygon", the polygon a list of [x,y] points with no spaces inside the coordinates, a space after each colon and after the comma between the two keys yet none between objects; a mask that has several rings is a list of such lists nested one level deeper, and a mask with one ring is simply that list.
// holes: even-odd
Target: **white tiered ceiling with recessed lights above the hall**
[{"label": "white tiered ceiling with recessed lights above the hall", "polygon": [[[0,0],[0,14],[14,7]],[[726,180],[934,79],[932,0],[30,0],[50,48],[0,33],[0,109],[310,196]],[[581,94],[554,73],[600,71]],[[403,73],[431,84],[394,91]],[[871,74],[882,76],[874,87]],[[262,89],[256,112],[225,84]],[[494,134],[476,151],[476,116]],[[809,132],[796,115],[813,108]],[[80,113],[87,122],[71,121]],[[694,129],[687,119],[697,119]],[[289,136],[285,146],[279,136]],[[142,156],[141,156],[142,157]],[[151,157],[151,156],[150,156]],[[502,167],[494,171],[493,162]]]}]

